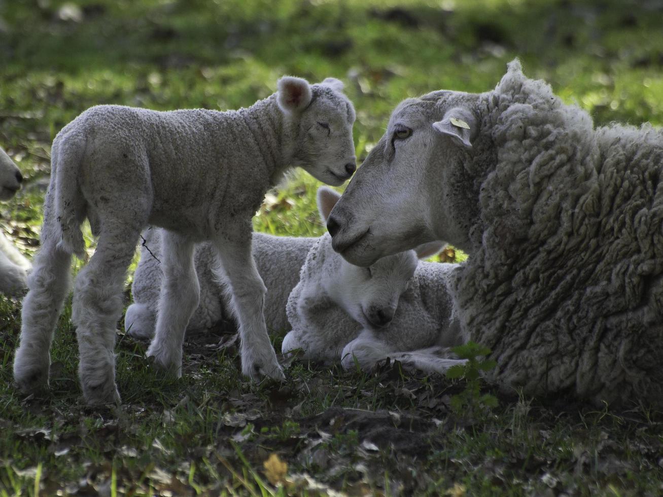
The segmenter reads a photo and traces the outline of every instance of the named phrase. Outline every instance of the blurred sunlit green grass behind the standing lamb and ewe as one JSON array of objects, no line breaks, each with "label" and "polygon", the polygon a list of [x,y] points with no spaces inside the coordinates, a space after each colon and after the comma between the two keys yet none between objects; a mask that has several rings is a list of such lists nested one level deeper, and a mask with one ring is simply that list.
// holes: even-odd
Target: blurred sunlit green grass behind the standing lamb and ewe
[{"label": "blurred sunlit green grass behind the standing lamb and ewe", "polygon": [[[235,109],[282,74],[335,76],[357,107],[361,161],[398,101],[486,91],[515,56],[598,124],[663,121],[660,0],[5,0],[0,144],[27,178],[5,227],[34,248],[50,142],[91,105]],[[295,173],[257,229],[322,233],[316,187]]]}]

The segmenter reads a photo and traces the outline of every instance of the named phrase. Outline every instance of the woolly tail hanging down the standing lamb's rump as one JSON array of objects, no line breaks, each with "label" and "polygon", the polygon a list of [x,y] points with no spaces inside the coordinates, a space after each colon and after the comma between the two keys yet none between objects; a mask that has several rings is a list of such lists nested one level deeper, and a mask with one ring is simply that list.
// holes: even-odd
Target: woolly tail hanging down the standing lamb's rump
[{"label": "woolly tail hanging down the standing lamb's rump", "polygon": [[[86,217],[86,199],[80,189],[80,166],[85,140],[72,138],[63,130],[53,142],[49,190],[55,201],[54,235],[58,248],[87,258],[81,224]],[[46,219],[44,219],[46,222]]]}]

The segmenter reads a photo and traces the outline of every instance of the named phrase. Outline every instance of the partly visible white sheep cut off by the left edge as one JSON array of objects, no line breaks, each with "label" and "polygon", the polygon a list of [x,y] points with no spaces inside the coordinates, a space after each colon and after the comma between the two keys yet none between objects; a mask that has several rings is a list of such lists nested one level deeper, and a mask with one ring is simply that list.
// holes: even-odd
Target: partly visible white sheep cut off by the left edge
[{"label": "partly visible white sheep cut off by the left edge", "polygon": [[[0,200],[9,200],[21,188],[23,174],[0,148]],[[17,296],[27,288],[30,262],[0,233],[0,293]]]}]

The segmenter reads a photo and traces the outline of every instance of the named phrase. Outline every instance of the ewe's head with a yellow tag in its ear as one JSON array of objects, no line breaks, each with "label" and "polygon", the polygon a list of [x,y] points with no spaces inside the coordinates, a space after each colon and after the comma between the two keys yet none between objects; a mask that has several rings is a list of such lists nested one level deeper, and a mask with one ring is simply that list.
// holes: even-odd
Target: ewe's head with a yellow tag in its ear
[{"label": "ewe's head with a yellow tag in its ear", "polygon": [[331,212],[333,247],[349,262],[435,240],[471,251],[479,216],[473,145],[480,135],[481,95],[436,91],[400,103]]}]

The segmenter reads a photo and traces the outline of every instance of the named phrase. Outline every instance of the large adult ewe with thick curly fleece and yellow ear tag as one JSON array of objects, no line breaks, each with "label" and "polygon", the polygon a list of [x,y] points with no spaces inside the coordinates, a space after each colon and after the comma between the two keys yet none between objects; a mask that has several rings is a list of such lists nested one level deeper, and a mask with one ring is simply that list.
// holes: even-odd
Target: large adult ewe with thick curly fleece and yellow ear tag
[{"label": "large adult ewe with thick curly fleece and yellow ear tag", "polygon": [[432,239],[467,251],[455,316],[501,389],[661,406],[662,167],[660,129],[594,128],[515,60],[493,91],[400,103],[328,229],[362,266]]}]

